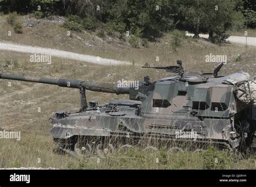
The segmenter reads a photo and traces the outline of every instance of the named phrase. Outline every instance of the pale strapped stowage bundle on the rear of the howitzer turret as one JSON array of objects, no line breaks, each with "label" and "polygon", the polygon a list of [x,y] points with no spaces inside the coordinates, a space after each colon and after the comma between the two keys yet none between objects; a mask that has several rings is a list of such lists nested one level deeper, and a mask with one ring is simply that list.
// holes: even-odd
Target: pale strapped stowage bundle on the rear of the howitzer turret
[{"label": "pale strapped stowage bundle on the rear of the howitzer turret", "polygon": [[242,102],[256,104],[256,76],[238,83],[237,87],[237,97]]}]

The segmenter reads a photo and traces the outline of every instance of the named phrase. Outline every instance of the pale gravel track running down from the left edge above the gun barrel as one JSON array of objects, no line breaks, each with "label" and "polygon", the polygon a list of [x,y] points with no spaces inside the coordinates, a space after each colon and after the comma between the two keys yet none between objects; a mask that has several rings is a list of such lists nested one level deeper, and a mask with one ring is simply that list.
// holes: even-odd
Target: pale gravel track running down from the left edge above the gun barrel
[{"label": "pale gravel track running down from the left edge above the gun barrel", "polygon": [[51,55],[56,57],[62,57],[65,59],[79,60],[79,61],[85,61],[89,63],[103,64],[103,65],[132,64],[131,62],[126,62],[126,61],[104,59],[99,56],[84,55],[84,54],[60,51],[57,49],[50,49],[50,48],[43,48],[43,47],[17,45],[17,44],[11,44],[7,42],[6,43],[0,42],[0,50],[15,51],[15,52],[21,52],[21,53],[30,53],[30,54]]}]

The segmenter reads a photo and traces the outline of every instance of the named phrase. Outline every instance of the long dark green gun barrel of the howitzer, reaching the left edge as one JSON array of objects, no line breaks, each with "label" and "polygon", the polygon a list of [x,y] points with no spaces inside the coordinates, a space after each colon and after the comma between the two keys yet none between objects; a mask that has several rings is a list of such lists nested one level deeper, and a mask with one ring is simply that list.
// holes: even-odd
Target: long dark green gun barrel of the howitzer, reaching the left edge
[{"label": "long dark green gun barrel of the howitzer, reaching the left edge", "polygon": [[107,93],[116,93],[118,94],[129,94],[129,88],[118,88],[117,85],[109,83],[95,83],[95,82],[84,82],[78,80],[69,80],[65,78],[44,78],[44,77],[27,77],[19,75],[9,75],[9,74],[0,74],[0,78],[8,80],[17,80],[17,81],[26,81],[26,82],[36,82],[43,84],[53,84],[58,85],[59,87],[66,88],[83,88],[85,90],[107,92]]}]

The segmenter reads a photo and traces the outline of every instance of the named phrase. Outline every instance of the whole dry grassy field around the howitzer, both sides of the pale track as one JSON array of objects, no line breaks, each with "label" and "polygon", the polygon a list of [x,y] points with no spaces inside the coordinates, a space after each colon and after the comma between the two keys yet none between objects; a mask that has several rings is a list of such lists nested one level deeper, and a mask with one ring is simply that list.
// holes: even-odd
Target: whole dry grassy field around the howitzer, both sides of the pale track
[{"label": "whole dry grassy field around the howitzer, both sides of the pale track", "polygon": [[[23,19],[20,17],[19,19]],[[1,73],[35,77],[72,78],[83,81],[117,83],[118,80],[142,80],[149,75],[157,80],[173,76],[164,70],[143,69],[145,63],[155,66],[170,66],[176,60],[183,60],[185,71],[212,72],[217,63],[206,63],[210,54],[227,55],[227,64],[220,74],[247,71],[255,75],[255,47],[239,45],[214,45],[206,40],[180,37],[176,33],[165,33],[158,42],[150,42],[149,47],[132,48],[123,40],[112,37],[103,40],[91,32],[71,33],[60,25],[44,24],[23,27],[23,34],[5,32],[12,28],[6,24],[5,16],[0,17],[0,40],[18,44],[62,49],[70,52],[91,54],[111,59],[134,62],[133,66],[102,66],[80,61],[52,57],[52,63],[31,63],[31,54],[0,51]],[[106,37],[107,38],[107,37]],[[88,44],[92,45],[89,46]],[[246,57],[247,56],[247,57]],[[159,61],[156,61],[159,57]],[[247,63],[245,61],[247,60]],[[247,64],[247,66],[245,66]],[[9,82],[11,87],[8,86]],[[238,160],[226,152],[209,147],[202,153],[167,153],[164,148],[147,153],[139,148],[123,152],[119,150],[113,157],[79,159],[69,155],[53,153],[53,141],[48,121],[53,112],[60,109],[79,107],[79,92],[76,89],[59,88],[28,82],[0,80],[0,128],[21,131],[21,141],[1,139],[0,168],[43,167],[60,169],[255,169],[255,157],[247,156]],[[87,98],[106,103],[112,98],[128,98],[125,95],[87,91]],[[38,112],[38,107],[41,112]],[[215,163],[215,159],[218,163]],[[38,163],[38,159],[41,160]],[[156,160],[159,160],[157,162]]]}]

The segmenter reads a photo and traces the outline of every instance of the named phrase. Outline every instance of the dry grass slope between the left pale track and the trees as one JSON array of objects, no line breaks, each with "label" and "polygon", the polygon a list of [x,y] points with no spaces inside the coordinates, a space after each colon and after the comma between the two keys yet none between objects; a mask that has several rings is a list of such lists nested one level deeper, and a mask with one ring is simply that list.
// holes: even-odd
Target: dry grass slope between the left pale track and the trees
[{"label": "dry grass slope between the left pale track and the trees", "polygon": [[[110,38],[108,40],[103,40],[97,37],[95,32],[71,32],[71,37],[68,37],[68,30],[56,24],[23,27],[23,34],[13,33],[11,37],[8,37],[6,33],[12,28],[6,23],[5,17],[0,16],[0,26],[3,30],[0,33],[0,40],[130,61],[140,65],[146,62],[158,66],[172,65],[176,63],[177,59],[181,59],[186,69],[200,70],[207,67],[206,70],[210,70],[214,65],[205,64],[205,55],[210,53],[225,54],[228,59],[232,59],[235,55],[245,52],[244,46],[234,47],[228,44],[217,46],[205,40],[197,42],[191,38],[186,40],[183,38],[182,47],[178,47],[177,51],[174,52],[173,37],[170,34],[165,34],[160,42],[150,42],[149,48],[131,48],[123,40],[111,37],[107,37]],[[23,17],[19,17],[19,20],[22,21]],[[247,51],[255,54],[255,47],[248,46],[247,49]],[[159,61],[156,61],[157,56]],[[252,57],[251,61],[256,63],[255,57]]]}]

